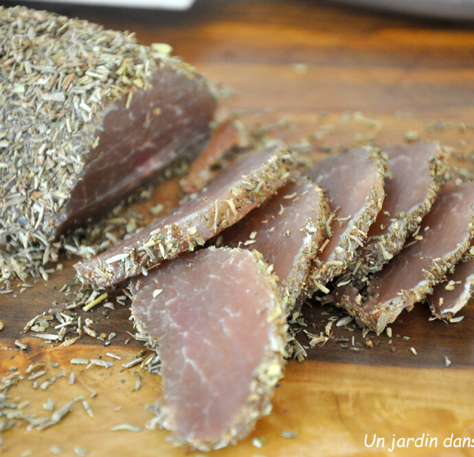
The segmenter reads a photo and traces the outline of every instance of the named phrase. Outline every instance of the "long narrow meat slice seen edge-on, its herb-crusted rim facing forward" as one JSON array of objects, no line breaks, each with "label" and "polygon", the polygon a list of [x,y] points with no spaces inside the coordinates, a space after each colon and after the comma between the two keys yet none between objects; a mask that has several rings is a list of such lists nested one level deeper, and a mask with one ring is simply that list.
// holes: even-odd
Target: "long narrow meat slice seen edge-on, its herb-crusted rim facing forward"
[{"label": "long narrow meat slice seen edge-on, its herb-crusted rim facing forward", "polygon": [[76,264],[79,279],[93,286],[113,286],[146,273],[163,259],[202,246],[282,187],[293,164],[291,153],[280,143],[241,158],[219,173],[195,200],[159,217],[110,251]]}]

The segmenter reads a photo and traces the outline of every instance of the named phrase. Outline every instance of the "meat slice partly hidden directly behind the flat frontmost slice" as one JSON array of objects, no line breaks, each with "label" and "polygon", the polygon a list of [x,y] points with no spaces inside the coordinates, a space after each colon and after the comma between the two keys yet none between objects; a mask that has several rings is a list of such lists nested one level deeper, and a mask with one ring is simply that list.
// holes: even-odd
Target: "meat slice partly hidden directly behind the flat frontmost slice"
[{"label": "meat slice partly hidden directly behind the flat frontmost slice", "polygon": [[326,238],[327,220],[324,192],[300,179],[286,184],[271,200],[225,230],[223,244],[262,253],[280,278],[290,311],[304,290],[311,261]]}]

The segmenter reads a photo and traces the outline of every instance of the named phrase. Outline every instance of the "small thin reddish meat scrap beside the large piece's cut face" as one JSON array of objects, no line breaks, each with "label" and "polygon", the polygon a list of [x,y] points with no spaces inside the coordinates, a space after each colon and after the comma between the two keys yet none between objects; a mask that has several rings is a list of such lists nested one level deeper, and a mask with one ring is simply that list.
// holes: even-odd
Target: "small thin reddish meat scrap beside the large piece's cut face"
[{"label": "small thin reddish meat scrap beside the large piece's cut face", "polygon": [[245,127],[238,120],[226,120],[211,134],[205,149],[190,165],[188,174],[180,181],[181,189],[188,193],[200,191],[210,182],[214,173],[212,167],[225,153],[234,147],[245,147],[248,143]]}]

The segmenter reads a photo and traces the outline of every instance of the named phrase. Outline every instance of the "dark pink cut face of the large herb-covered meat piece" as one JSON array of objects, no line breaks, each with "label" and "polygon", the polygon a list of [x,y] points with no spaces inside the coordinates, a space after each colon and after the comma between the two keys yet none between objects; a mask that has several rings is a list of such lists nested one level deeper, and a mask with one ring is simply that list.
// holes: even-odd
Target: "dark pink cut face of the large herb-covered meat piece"
[{"label": "dark pink cut face of the large herb-covered meat piece", "polygon": [[124,96],[104,110],[100,142],[59,216],[58,233],[101,217],[183,153],[201,149],[216,108],[207,85],[164,65],[150,83],[150,89],[134,92],[128,109]]}]

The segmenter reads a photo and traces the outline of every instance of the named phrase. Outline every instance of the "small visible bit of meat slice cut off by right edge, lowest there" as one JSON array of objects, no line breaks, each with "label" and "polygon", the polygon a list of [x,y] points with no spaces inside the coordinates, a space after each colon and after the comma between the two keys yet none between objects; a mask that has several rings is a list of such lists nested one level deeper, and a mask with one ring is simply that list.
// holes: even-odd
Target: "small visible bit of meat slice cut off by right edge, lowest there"
[{"label": "small visible bit of meat slice cut off by right edge, lowest there", "polygon": [[427,301],[431,312],[440,319],[451,319],[469,303],[474,293],[474,260],[460,262],[454,273],[433,288]]}]

